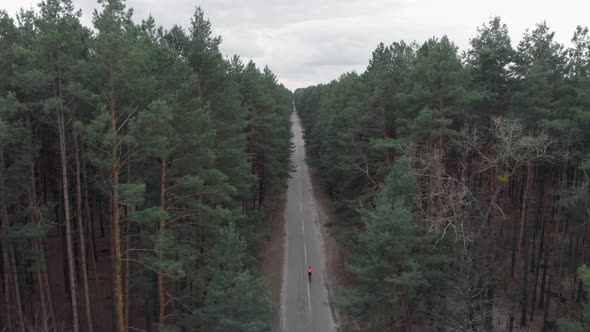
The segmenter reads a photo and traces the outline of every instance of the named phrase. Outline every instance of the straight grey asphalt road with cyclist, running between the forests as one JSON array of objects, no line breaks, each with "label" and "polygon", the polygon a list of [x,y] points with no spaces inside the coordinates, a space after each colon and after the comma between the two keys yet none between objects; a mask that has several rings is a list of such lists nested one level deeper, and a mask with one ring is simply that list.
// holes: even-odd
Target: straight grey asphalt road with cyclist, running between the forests
[{"label": "straight grey asphalt road with cyclist, running between the forests", "polygon": [[[291,173],[285,209],[285,260],[281,291],[283,331],[334,331],[326,290],[326,267],[320,225],[311,180],[305,164],[305,150],[299,117],[291,117],[295,151],[291,156],[296,171]],[[307,267],[311,266],[311,282]]]}]

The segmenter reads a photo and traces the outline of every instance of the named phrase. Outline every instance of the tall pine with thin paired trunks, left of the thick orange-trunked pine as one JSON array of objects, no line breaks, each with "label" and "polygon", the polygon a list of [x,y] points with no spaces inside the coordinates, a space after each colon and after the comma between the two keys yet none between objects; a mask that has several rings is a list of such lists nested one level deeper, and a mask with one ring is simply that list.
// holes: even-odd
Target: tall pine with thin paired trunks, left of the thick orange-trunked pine
[{"label": "tall pine with thin paired trunks, left of the thick orange-trunked pine", "polygon": [[[78,322],[78,290],[74,243],[72,227],[72,202],[70,200],[69,177],[68,174],[68,152],[67,139],[69,124],[72,122],[72,113],[75,112],[76,97],[70,91],[73,86],[79,84],[76,82],[77,74],[73,72],[76,69],[76,63],[85,57],[87,45],[85,41],[89,39],[90,33],[83,28],[79,21],[79,13],[74,12],[71,1],[68,0],[49,0],[40,5],[41,16],[36,21],[39,29],[39,60],[40,68],[44,68],[45,81],[47,90],[47,99],[43,101],[45,112],[53,118],[55,114],[56,126],[59,140],[59,155],[62,175],[62,192],[64,204],[64,222],[66,226],[66,241],[68,253],[68,270],[70,280],[70,296],[72,302],[74,330],[79,329]],[[77,173],[79,175],[79,172]],[[76,182],[79,187],[80,181]],[[82,284],[84,286],[84,308],[86,311],[87,330],[92,331],[92,313],[90,305],[88,275],[86,266],[86,245],[84,239],[84,227],[81,219],[81,197],[75,196],[76,199],[76,220],[80,241],[80,271],[82,275]]]}]

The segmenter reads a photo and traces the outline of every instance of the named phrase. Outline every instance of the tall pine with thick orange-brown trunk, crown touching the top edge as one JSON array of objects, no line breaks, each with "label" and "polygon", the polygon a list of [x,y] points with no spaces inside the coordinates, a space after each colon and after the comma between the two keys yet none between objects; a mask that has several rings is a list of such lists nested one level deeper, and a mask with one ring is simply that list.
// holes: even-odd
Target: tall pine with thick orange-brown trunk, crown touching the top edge
[{"label": "tall pine with thick orange-brown trunk, crown touching the top edge", "polygon": [[89,157],[93,165],[103,175],[110,199],[113,248],[113,290],[117,331],[127,329],[125,321],[123,256],[121,231],[120,177],[129,162],[126,130],[129,118],[135,110],[145,106],[153,96],[153,83],[150,73],[142,72],[146,61],[142,56],[141,45],[137,42],[136,29],[131,22],[131,12],[125,10],[119,0],[102,3],[102,12],[94,13],[94,26],[98,31],[93,44],[95,67],[91,77],[98,80],[95,91],[104,99],[100,100],[100,113],[86,129],[89,144],[93,150]]}]

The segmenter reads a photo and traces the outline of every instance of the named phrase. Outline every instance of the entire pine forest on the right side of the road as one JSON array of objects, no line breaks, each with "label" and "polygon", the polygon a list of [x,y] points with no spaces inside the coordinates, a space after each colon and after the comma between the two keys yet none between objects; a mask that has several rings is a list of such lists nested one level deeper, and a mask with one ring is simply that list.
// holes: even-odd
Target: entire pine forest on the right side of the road
[{"label": "entire pine forest on the right side of the road", "polygon": [[540,331],[579,320],[590,34],[572,36],[562,45],[540,23],[513,48],[494,17],[465,52],[446,36],[381,43],[364,72],[295,91],[332,232],[353,248],[338,301],[348,328]]}]

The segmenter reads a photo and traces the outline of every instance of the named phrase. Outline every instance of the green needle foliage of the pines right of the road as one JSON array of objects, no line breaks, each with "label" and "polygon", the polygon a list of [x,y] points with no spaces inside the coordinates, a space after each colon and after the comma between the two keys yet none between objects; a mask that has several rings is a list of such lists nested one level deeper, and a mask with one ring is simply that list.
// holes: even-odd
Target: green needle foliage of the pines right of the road
[{"label": "green needle foliage of the pines right of the road", "polygon": [[[460,233],[469,239],[467,243],[474,241],[479,245],[489,240],[479,238],[485,237],[482,235],[485,225],[477,227],[479,223],[472,221],[495,213],[496,203],[504,209],[504,203],[492,202],[494,207],[490,212],[475,211],[474,200],[479,201],[479,195],[483,194],[483,201],[487,201],[494,195],[486,190],[520,183],[520,170],[509,168],[513,164],[522,167],[523,154],[535,149],[533,153],[543,154],[547,152],[543,146],[547,142],[551,142],[547,146],[559,144],[563,146],[562,154],[570,158],[567,172],[550,164],[554,152],[549,153],[549,158],[534,160],[535,171],[570,174],[569,167],[575,167],[585,174],[590,155],[589,35],[588,29],[578,27],[572,47],[566,49],[554,40],[547,24],[541,23],[527,31],[518,48],[513,49],[507,26],[494,17],[478,29],[478,35],[471,39],[471,48],[463,55],[447,37],[431,38],[421,45],[403,41],[389,46],[381,43],[363,73],[347,73],[329,84],[295,91],[309,161],[317,168],[320,182],[334,200],[338,213],[338,219],[332,223],[333,233],[346,246],[358,245],[357,260],[350,270],[359,287],[348,290],[343,308],[357,318],[361,328],[399,329],[389,320],[410,319],[404,316],[404,310],[412,312],[414,320],[416,312],[449,318],[438,322],[441,328],[464,329],[469,325],[477,329],[479,324],[491,328],[490,322],[484,323],[479,318],[476,322],[470,316],[474,314],[473,303],[491,301],[486,298],[488,295],[475,302],[471,298],[473,292],[480,291],[480,285],[470,278],[479,278],[476,277],[481,274],[479,269],[485,269],[483,265],[487,264],[481,262],[488,258],[478,256],[481,262],[466,260],[460,266],[465,271],[459,272],[465,272],[466,276],[455,276],[454,280],[436,276],[439,270],[425,267],[430,264],[426,262],[436,265],[437,261],[453,261],[458,244],[453,243],[446,231]],[[495,128],[497,117],[515,118],[516,121],[506,121],[519,125],[496,133],[502,137],[492,137],[492,131],[487,128]],[[461,144],[468,145],[464,139],[467,129],[473,133],[471,138],[477,147],[469,147],[470,152],[464,154],[465,149],[457,139],[463,138]],[[533,137],[532,133],[538,131],[542,134]],[[420,173],[416,196],[410,205],[384,203],[383,192],[390,187],[387,176],[392,164],[402,156],[409,157]],[[480,163],[497,169],[492,175],[497,182],[487,189],[480,188],[486,186],[482,178],[479,184],[471,178],[473,174],[483,175],[483,179],[488,175],[490,168],[480,170]],[[578,170],[574,173],[579,174]],[[465,181],[465,187],[461,188]],[[568,186],[569,181],[568,175]],[[558,204],[565,208],[568,223],[584,222],[585,186],[585,182],[578,182],[558,193]],[[366,206],[370,208],[359,209]],[[396,222],[391,220],[393,217]],[[461,230],[456,227],[458,220]],[[387,227],[395,227],[395,232]],[[359,229],[364,230],[361,236],[358,236]],[[437,234],[438,230],[446,236]],[[400,235],[398,238],[391,234]],[[405,244],[406,238],[418,240],[416,243],[407,240],[409,243]],[[398,243],[404,246],[398,248]],[[477,252],[483,250],[478,245],[473,246],[475,249],[466,245],[465,254],[470,255],[474,250],[475,255],[487,255]],[[490,245],[496,244],[486,244]],[[424,248],[440,251],[432,251],[432,256],[416,255],[416,252],[428,252]],[[400,258],[392,259],[388,254]],[[387,274],[380,268],[384,271],[397,268],[397,273],[387,271]],[[432,280],[438,277],[437,282],[441,284],[437,290],[446,286],[454,290],[432,292],[421,298],[423,293],[417,293],[416,289],[430,289],[435,284]],[[484,287],[494,287],[493,282],[492,286]],[[407,293],[408,309],[400,304],[402,291]],[[445,311],[445,303],[461,303],[461,306]],[[477,310],[492,315],[491,307],[480,307]]]}]

